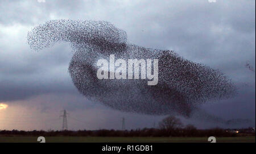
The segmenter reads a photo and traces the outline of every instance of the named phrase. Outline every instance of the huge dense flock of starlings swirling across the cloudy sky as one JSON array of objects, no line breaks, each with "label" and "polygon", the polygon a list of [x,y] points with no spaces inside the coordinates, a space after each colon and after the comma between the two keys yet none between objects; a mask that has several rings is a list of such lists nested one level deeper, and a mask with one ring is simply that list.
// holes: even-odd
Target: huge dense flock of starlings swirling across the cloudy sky
[{"label": "huge dense flock of starlings swirling across the cloudy sky", "polygon": [[[126,32],[112,23],[93,20],[49,20],[31,29],[28,44],[34,50],[67,41],[73,49],[69,73],[86,98],[113,109],[149,114],[191,116],[209,101],[228,99],[236,86],[219,70],[185,60],[174,51],[148,49],[127,43]],[[159,80],[99,80],[97,60],[158,59]]]}]

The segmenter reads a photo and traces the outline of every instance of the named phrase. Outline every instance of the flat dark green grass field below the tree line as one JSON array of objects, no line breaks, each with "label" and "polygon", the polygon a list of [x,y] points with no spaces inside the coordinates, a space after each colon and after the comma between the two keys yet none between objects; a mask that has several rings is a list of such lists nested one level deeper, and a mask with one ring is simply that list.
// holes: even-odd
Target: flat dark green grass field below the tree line
[{"label": "flat dark green grass field below the tree line", "polygon": [[[216,138],[217,142],[255,142],[255,136],[246,137],[231,137],[231,138]],[[0,136],[0,143],[12,142],[12,143],[31,143],[37,142],[35,136]],[[46,142],[71,142],[71,143],[100,143],[100,142],[179,142],[179,143],[192,143],[192,142],[208,142],[208,138],[123,138],[123,137],[75,137],[75,136],[46,136]]]}]

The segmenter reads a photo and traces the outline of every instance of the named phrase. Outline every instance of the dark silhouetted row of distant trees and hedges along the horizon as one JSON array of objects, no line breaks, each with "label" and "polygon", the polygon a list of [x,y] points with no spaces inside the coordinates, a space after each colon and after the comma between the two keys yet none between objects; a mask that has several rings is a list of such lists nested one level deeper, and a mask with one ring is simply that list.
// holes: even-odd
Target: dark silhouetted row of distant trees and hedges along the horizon
[{"label": "dark silhouetted row of distant trees and hedges along the horizon", "polygon": [[[244,134],[253,135],[254,133]],[[236,132],[222,128],[199,130],[192,124],[183,127],[180,119],[168,116],[159,123],[159,128],[143,128],[137,130],[79,130],[79,131],[18,131],[0,130],[0,136],[106,136],[106,137],[234,137],[241,136]]]}]

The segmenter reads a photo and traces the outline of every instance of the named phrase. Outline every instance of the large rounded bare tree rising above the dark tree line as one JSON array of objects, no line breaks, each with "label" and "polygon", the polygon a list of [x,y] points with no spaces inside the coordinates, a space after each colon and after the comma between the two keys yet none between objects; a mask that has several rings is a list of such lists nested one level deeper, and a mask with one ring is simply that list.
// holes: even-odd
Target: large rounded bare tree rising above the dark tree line
[{"label": "large rounded bare tree rising above the dark tree line", "polygon": [[159,127],[161,129],[173,130],[175,128],[183,127],[183,124],[181,123],[180,119],[170,115],[159,122]]}]

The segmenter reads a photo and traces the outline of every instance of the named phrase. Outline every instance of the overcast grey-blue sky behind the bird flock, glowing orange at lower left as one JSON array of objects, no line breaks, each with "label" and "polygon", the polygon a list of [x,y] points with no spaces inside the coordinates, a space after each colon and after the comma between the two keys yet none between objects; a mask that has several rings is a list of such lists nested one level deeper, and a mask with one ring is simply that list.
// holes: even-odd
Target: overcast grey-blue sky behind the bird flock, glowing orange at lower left
[{"label": "overcast grey-blue sky behind the bird flock, glowing orange at lower left", "polygon": [[[51,19],[106,20],[127,32],[130,43],[174,50],[184,59],[220,69],[238,95],[207,102],[208,113],[250,119],[255,127],[255,1],[0,1],[0,130],[60,129],[66,109],[71,130],[158,125],[164,116],[122,113],[90,102],[68,73],[68,43],[32,51],[27,32]],[[252,69],[246,67],[249,64]],[[196,119],[198,128],[224,127]],[[240,125],[236,127],[248,127]]]}]

